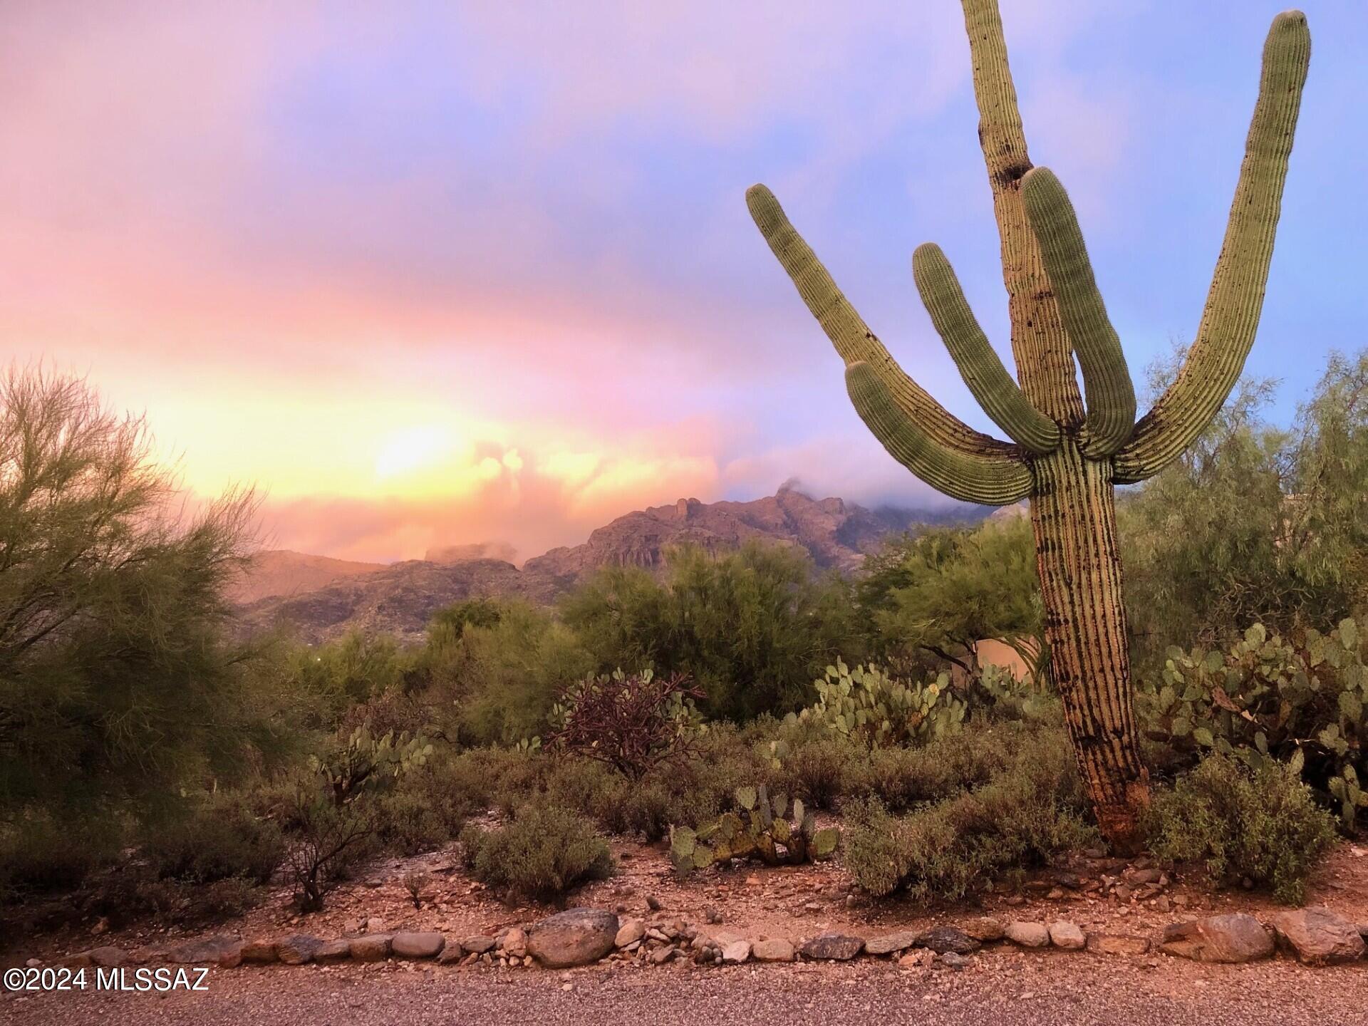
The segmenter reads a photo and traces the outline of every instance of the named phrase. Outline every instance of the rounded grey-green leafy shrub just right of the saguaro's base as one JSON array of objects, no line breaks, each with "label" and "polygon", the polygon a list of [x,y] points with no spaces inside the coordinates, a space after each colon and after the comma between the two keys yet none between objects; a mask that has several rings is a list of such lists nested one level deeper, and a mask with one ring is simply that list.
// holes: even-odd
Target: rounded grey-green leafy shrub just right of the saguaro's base
[{"label": "rounded grey-green leafy shrub just right of the saguaro's base", "polygon": [[1201,862],[1223,884],[1248,877],[1289,904],[1335,840],[1334,819],[1290,766],[1250,769],[1219,754],[1155,793],[1146,829],[1159,858]]}]

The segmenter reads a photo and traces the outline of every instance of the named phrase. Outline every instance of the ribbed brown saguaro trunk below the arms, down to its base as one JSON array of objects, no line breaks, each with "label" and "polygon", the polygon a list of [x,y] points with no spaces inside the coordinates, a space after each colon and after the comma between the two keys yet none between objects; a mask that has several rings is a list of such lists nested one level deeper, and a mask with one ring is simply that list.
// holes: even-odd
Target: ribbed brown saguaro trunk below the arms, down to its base
[{"label": "ribbed brown saguaro trunk below the arms, down to its base", "polygon": [[1097,822],[1130,850],[1149,777],[1133,714],[1109,468],[1066,440],[1036,460],[1034,472],[1030,517],[1051,670]]}]

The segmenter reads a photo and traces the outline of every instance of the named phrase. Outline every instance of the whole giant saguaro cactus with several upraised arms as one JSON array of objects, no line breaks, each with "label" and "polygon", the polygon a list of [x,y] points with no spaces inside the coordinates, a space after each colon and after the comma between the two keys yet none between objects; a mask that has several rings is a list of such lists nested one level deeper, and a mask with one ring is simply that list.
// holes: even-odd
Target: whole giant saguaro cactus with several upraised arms
[{"label": "whole giant saguaro cactus with several upraised arms", "polygon": [[1268,279],[1311,34],[1300,11],[1274,19],[1197,337],[1176,380],[1137,421],[1126,358],[1074,208],[1059,179],[1048,168],[1033,168],[1026,155],[997,0],[962,3],[1019,384],[989,345],[938,246],[917,249],[912,275],[964,383],[1011,442],[974,431],[903,372],[769,189],[752,186],[746,198],[774,256],[845,360],[850,397],[884,447],[953,498],[988,505],[1030,499],[1045,640],[1074,751],[1103,832],[1129,848],[1149,802],[1149,782],[1133,715],[1114,486],[1144,480],[1178,457],[1239,378]]}]

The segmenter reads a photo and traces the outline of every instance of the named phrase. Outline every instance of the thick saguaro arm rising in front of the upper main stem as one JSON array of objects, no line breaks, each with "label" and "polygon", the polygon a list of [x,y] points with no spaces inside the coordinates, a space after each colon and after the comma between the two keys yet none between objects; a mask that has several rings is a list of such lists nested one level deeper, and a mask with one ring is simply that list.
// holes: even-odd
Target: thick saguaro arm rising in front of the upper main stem
[{"label": "thick saguaro arm rising in front of the upper main stem", "polygon": [[1120,338],[1097,291],[1083,233],[1064,186],[1048,167],[1037,167],[1022,179],[1022,200],[1040,242],[1041,263],[1055,291],[1064,332],[1083,371],[1088,397],[1083,454],[1111,456],[1135,427],[1135,389],[1126,369]]}]

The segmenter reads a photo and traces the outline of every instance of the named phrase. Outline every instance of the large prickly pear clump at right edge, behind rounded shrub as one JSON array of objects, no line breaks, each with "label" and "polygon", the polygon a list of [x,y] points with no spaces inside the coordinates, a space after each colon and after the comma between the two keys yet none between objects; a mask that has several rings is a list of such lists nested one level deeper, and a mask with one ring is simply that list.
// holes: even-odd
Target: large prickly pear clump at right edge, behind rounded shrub
[{"label": "large prickly pear clump at right edge, behind rounded shrub", "polygon": [[1358,624],[1301,644],[1250,627],[1228,651],[1170,650],[1160,681],[1140,689],[1150,737],[1189,759],[1209,751],[1248,766],[1294,765],[1347,829],[1368,807],[1368,666]]}]

